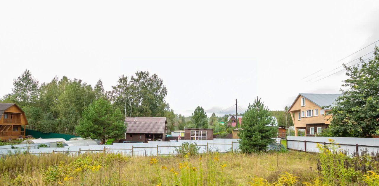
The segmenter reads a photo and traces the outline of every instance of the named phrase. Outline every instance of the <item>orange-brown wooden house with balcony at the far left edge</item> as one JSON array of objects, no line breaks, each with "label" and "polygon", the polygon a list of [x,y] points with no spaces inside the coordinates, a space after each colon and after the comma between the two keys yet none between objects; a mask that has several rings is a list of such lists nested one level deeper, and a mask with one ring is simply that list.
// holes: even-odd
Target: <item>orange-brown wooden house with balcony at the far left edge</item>
[{"label": "orange-brown wooden house with balcony at the far left edge", "polygon": [[28,125],[28,121],[19,106],[0,103],[0,140],[25,138],[25,125]]}]

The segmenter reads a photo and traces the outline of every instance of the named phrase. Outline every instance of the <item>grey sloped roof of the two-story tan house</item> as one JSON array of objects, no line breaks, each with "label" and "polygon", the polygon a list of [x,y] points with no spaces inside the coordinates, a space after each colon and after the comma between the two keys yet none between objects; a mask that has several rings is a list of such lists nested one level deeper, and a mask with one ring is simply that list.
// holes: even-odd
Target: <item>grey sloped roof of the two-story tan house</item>
[{"label": "grey sloped roof of the two-story tan house", "polygon": [[[335,106],[334,101],[340,97],[342,94],[299,94],[302,97],[307,98],[307,100],[312,101],[319,107],[323,106]],[[331,108],[325,108],[331,109]]]}]

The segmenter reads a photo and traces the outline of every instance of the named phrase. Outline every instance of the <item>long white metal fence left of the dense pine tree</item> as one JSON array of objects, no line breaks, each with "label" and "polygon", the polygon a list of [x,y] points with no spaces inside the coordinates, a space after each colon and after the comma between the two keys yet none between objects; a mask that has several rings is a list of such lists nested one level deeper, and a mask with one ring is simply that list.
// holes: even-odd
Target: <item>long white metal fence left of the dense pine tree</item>
[{"label": "long white metal fence left of the dense pine tree", "polygon": [[[280,138],[275,138],[280,141]],[[38,144],[22,146],[22,148],[0,149],[0,155],[16,154],[28,152],[31,154],[50,154],[63,152],[67,154],[81,154],[85,152],[109,152],[120,153],[128,156],[155,156],[155,155],[175,155],[175,147],[182,146],[182,143],[196,143],[199,153],[206,152],[235,152],[240,151],[238,139],[214,139],[214,140],[180,140],[180,141],[149,141],[149,143],[113,143],[112,145],[89,145],[89,146],[64,146],[63,148],[39,148]]]}]

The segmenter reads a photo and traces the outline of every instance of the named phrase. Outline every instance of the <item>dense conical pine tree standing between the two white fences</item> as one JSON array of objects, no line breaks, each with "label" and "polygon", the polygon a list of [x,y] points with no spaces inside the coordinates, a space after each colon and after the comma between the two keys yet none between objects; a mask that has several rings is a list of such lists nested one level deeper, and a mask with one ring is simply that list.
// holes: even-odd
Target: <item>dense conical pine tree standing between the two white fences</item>
[{"label": "dense conical pine tree standing between the two white fences", "polygon": [[276,127],[273,127],[274,123],[268,108],[257,97],[242,118],[242,125],[238,133],[241,138],[241,151],[252,153],[267,150],[268,144],[274,142],[271,137],[277,131]]}]

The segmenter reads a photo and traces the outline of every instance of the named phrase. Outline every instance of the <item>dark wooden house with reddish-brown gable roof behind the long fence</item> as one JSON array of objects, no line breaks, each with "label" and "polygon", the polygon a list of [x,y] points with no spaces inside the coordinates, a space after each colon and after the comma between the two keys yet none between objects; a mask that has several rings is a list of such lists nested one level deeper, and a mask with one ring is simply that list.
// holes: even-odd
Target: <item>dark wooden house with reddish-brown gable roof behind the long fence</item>
[{"label": "dark wooden house with reddish-brown gable roof behind the long fence", "polygon": [[126,117],[125,141],[165,141],[167,120],[165,117]]}]

